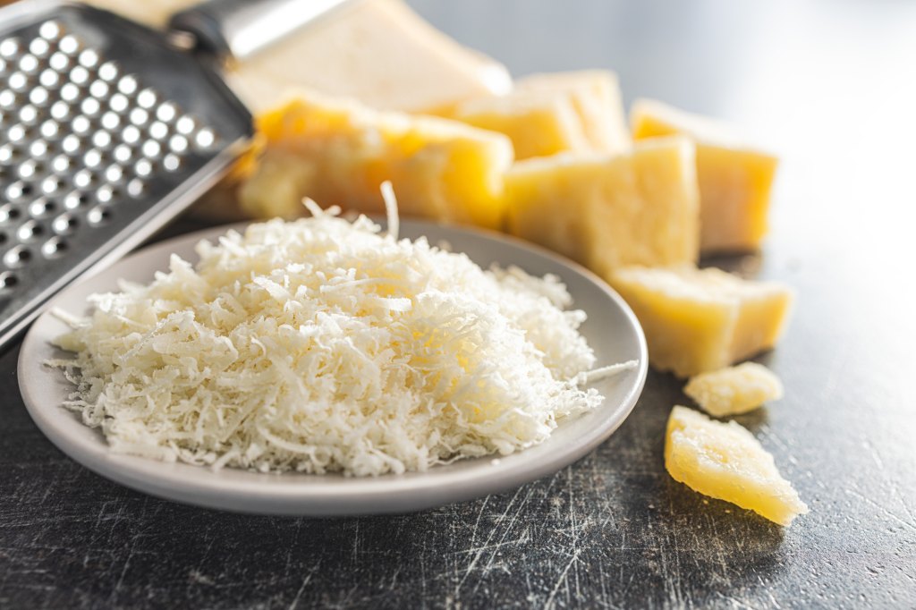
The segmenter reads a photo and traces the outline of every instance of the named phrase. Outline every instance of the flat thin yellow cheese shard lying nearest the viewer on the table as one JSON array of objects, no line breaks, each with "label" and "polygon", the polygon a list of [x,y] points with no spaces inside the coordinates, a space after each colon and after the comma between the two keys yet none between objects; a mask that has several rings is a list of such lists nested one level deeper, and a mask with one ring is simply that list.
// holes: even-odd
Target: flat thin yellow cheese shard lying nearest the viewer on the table
[{"label": "flat thin yellow cheese shard lying nearest the viewer on the table", "polygon": [[704,496],[748,508],[782,526],[808,512],[767,452],[735,421],[709,419],[675,407],[668,418],[665,468],[671,478]]}]

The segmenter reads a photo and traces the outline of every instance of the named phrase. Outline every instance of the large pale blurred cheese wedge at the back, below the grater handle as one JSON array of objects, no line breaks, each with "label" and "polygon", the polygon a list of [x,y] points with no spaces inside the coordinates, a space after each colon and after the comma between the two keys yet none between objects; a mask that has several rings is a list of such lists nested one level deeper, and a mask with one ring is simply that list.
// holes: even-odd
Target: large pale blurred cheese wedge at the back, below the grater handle
[{"label": "large pale blurred cheese wedge at the back, below the grater handle", "polygon": [[506,68],[442,34],[400,0],[363,0],[245,60],[227,75],[256,113],[293,87],[382,110],[427,112],[508,93]]}]

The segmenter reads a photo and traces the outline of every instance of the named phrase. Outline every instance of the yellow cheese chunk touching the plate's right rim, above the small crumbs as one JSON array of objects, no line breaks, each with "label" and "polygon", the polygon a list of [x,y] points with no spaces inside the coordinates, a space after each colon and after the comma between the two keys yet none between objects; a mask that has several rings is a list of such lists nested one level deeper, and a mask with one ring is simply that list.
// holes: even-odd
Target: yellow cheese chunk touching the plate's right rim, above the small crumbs
[{"label": "yellow cheese chunk touching the plate's right rim, above the small crumbs", "polygon": [[772,348],[790,317],[792,292],[719,269],[627,267],[611,285],[636,313],[649,361],[692,376]]}]

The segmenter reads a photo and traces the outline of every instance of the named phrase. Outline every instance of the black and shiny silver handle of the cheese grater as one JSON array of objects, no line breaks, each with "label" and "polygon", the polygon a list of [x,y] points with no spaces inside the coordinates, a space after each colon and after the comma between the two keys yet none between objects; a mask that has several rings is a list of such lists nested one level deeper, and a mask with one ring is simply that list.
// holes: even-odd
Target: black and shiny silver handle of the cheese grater
[{"label": "black and shiny silver handle of the cheese grater", "polygon": [[171,17],[169,29],[224,60],[245,60],[354,0],[207,0]]}]

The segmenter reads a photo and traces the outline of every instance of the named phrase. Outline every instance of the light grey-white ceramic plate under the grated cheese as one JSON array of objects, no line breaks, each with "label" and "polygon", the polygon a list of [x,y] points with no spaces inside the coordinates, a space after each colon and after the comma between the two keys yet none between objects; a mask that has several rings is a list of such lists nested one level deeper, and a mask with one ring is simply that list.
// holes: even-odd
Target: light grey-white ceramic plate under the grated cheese
[{"label": "light grey-white ceramic plate under the grated cheese", "polygon": [[[218,227],[153,245],[62,291],[50,303],[72,313],[87,311],[86,297],[116,289],[116,280],[149,281],[168,267],[169,255],[195,261],[193,246],[229,227]],[[234,228],[239,228],[236,225]],[[49,341],[67,327],[45,313],[28,332],[19,355],[19,388],[32,419],[62,452],[117,483],[179,502],[251,513],[285,515],[354,515],[436,507],[505,490],[560,470],[591,452],[616,430],[636,404],[646,380],[646,341],[636,317],[616,293],[594,275],[546,250],[503,235],[432,223],[401,223],[401,236],[426,235],[432,244],[446,240],[478,265],[522,267],[530,274],[556,274],[585,310],[582,332],[598,358],[597,365],[637,359],[638,368],[595,385],[605,396],[600,408],[562,423],[542,444],[498,461],[463,460],[426,473],[389,474],[374,478],[341,475],[259,474],[185,463],[163,463],[109,451],[102,433],[87,428],[60,406],[72,386],[57,369],[42,363],[65,354]]]}]

